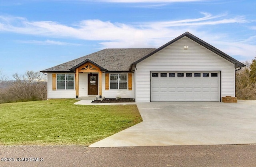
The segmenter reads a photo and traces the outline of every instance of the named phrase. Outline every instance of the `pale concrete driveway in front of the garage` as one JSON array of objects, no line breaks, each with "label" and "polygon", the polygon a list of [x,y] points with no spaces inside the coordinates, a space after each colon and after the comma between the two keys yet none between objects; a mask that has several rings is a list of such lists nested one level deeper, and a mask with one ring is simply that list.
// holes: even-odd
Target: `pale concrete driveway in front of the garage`
[{"label": "pale concrete driveway in front of the garage", "polygon": [[143,122],[89,147],[256,143],[256,100],[136,104]]}]

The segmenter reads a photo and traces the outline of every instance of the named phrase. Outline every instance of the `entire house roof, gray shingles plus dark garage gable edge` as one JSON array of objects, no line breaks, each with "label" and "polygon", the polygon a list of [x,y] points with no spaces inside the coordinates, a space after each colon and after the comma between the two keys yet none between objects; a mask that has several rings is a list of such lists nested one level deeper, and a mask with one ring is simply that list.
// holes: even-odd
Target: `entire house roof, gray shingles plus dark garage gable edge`
[{"label": "entire house roof, gray shingles plus dark garage gable edge", "polygon": [[165,45],[159,47],[158,49],[104,49],[72,61],[57,65],[55,67],[45,69],[41,72],[72,72],[70,69],[79,65],[80,63],[86,61],[87,59],[96,65],[100,66],[101,69],[106,71],[130,71],[130,67],[135,67],[137,63],[143,61],[144,59],[150,57],[154,53],[164,49],[168,45],[178,41],[182,37],[188,37],[193,41],[199,43],[200,45],[206,47],[210,51],[216,53],[217,55],[223,57],[224,59],[234,63],[235,67],[244,67],[243,63],[240,63],[236,59],[230,57],[226,53],[216,49],[212,45],[206,43],[205,41],[199,39],[198,37],[186,32],[179,37],[173,39],[172,41],[166,43]]}]

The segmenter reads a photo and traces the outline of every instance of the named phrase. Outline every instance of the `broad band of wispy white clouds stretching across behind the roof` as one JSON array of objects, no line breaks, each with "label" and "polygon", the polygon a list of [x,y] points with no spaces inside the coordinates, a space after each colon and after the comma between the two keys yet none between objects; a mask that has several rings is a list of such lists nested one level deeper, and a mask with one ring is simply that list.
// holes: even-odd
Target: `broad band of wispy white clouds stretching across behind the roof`
[{"label": "broad band of wispy white clouds stretching across behind the roof", "polygon": [[[199,18],[141,22],[133,24],[112,23],[101,20],[82,20],[73,25],[52,21],[31,22],[26,18],[0,16],[0,32],[41,35],[50,38],[82,39],[100,41],[102,48],[146,48],[160,47],[178,35],[189,31],[229,55],[253,58],[254,36],[246,40],[228,41],[232,34],[209,33],[204,26],[247,23],[244,16],[230,17],[228,14],[213,16],[202,12]],[[222,41],[222,42],[220,42]],[[55,40],[25,41],[41,45],[76,45]],[[221,43],[221,44],[220,44]]]}]

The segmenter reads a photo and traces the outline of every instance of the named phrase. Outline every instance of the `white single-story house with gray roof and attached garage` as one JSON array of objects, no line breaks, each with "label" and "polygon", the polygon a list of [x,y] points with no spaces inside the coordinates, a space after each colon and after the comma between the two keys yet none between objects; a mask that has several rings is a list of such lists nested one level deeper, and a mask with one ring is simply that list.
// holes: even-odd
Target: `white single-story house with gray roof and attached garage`
[{"label": "white single-story house with gray roof and attached garage", "polygon": [[221,101],[235,96],[236,59],[186,32],[158,49],[103,49],[45,69],[48,98]]}]

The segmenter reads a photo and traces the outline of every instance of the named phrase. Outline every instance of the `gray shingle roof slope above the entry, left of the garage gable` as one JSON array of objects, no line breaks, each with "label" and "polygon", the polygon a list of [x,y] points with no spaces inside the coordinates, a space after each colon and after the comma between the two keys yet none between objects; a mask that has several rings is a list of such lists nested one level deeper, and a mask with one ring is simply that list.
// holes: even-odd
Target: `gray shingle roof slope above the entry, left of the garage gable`
[{"label": "gray shingle roof slope above the entry, left of the garage gable", "polygon": [[155,50],[156,49],[103,49],[90,55],[42,70],[41,72],[71,72],[69,69],[82,63],[86,59],[89,59],[107,71],[129,71],[131,63],[142,59]]}]

